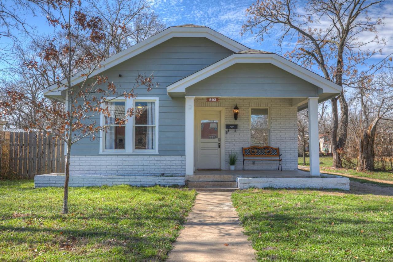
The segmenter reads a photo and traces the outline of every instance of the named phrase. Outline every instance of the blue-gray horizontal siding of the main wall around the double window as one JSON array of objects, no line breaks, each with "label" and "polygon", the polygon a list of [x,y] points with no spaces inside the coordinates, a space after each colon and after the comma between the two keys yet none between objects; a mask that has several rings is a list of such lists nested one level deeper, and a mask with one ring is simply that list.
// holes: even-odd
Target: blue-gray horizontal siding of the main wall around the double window
[{"label": "blue-gray horizontal siding of the main wall around the double window", "polygon": [[[159,97],[159,155],[184,156],[185,114],[184,98],[171,98],[166,87],[188,75],[195,73],[233,52],[207,38],[171,38],[113,68],[103,75],[119,88],[129,90],[140,74],[153,74],[158,88],[147,92],[140,87],[139,97]],[[119,74],[122,76],[119,77]],[[105,85],[103,85],[105,88]],[[121,91],[121,90],[119,90]],[[95,119],[99,123],[99,118]],[[84,138],[72,147],[72,155],[98,155],[99,139]]]}]

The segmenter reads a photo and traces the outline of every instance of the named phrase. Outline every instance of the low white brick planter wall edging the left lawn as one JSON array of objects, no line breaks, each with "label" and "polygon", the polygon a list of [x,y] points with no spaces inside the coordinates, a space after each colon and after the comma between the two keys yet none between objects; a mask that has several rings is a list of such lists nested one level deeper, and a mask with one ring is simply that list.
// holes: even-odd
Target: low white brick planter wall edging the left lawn
[{"label": "low white brick planter wall edging the left lawn", "polygon": [[[87,187],[102,185],[185,185],[184,176],[70,176],[70,187]],[[62,187],[64,176],[39,175],[34,177],[34,187]]]}]

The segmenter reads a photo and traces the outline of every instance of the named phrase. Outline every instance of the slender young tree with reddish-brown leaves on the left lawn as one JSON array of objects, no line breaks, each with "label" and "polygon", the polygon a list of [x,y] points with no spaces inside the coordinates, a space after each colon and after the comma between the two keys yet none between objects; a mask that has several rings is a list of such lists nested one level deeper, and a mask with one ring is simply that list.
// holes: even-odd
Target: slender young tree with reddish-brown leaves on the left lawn
[{"label": "slender young tree with reddish-brown leaves on the left lawn", "polygon": [[[7,88],[0,101],[2,115],[12,115],[21,105],[29,104],[34,114],[23,114],[21,123],[25,130],[41,131],[47,136],[61,138],[66,144],[65,181],[62,213],[68,213],[68,181],[70,176],[70,154],[72,145],[84,137],[97,139],[99,132],[105,132],[112,125],[125,125],[130,117],[139,111],[128,108],[126,113],[114,115],[109,102],[124,97],[133,98],[138,87],[150,91],[154,87],[153,77],[139,75],[134,86],[122,88],[110,82],[108,77],[97,74],[105,61],[113,42],[105,35],[103,21],[99,16],[85,11],[80,1],[51,0],[48,2],[48,22],[61,31],[57,37],[41,46],[39,59],[54,68],[55,84],[51,90],[61,90],[66,96],[66,107],[59,103],[48,103],[47,99],[31,96],[17,88]],[[118,29],[123,30],[121,24]],[[113,34],[117,35],[117,34]],[[92,48],[92,47],[95,48]],[[42,72],[45,68],[37,60],[25,63],[26,68]],[[82,77],[79,84],[72,84],[73,77]],[[53,87],[55,86],[55,87]],[[102,115],[105,123],[96,123]]]}]

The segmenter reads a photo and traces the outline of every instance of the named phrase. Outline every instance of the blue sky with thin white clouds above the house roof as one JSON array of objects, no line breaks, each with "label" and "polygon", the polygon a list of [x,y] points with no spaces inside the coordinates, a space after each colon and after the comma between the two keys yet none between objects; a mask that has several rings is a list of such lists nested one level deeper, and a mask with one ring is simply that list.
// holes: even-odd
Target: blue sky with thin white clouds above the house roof
[{"label": "blue sky with thin white clouds above the house roof", "polygon": [[[241,26],[246,20],[245,10],[252,3],[252,0],[152,0],[152,8],[167,26],[181,24],[209,26],[249,48],[280,53],[281,50],[275,45],[277,35],[274,30],[270,32],[270,37],[265,37],[262,43],[254,39],[250,33],[240,35]],[[393,31],[393,0],[387,0],[382,9],[370,10],[369,16],[372,18],[385,16],[385,25],[379,26],[378,31],[379,37],[387,40],[384,53],[370,60],[371,64],[379,62],[387,54],[393,52],[393,34],[391,33]],[[26,17],[26,19],[29,25],[36,27],[40,33],[53,31],[44,16],[38,14],[35,17]],[[360,39],[363,40],[363,38],[367,40],[367,35],[360,36]],[[295,41],[296,39],[292,41],[289,49],[294,47]],[[2,44],[6,42],[6,39],[3,38]],[[380,45],[369,46],[369,48],[375,49],[380,47]]]}]

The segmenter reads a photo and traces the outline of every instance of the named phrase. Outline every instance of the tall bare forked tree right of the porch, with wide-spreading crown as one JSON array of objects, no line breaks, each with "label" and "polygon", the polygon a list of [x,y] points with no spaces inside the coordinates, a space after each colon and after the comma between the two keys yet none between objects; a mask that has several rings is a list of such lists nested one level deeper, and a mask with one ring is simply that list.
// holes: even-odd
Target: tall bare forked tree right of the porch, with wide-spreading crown
[{"label": "tall bare forked tree right of the porch, with wide-spreading crown", "polygon": [[[382,0],[308,0],[305,4],[296,0],[257,0],[246,10],[248,19],[242,32],[251,31],[263,41],[271,30],[277,29],[281,50],[283,44],[296,40],[295,48],[286,52],[285,57],[320,70],[326,79],[345,87],[369,77],[383,66],[379,64],[371,70],[359,70],[367,59],[381,51],[368,49],[367,45],[384,43],[376,30],[382,19],[367,16],[370,8],[381,3]],[[363,42],[358,38],[363,33],[374,37]],[[337,101],[340,102],[340,123]],[[345,147],[348,131],[344,89],[338,97],[331,99],[331,113],[333,166],[342,167],[339,152]]]}]

